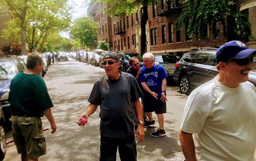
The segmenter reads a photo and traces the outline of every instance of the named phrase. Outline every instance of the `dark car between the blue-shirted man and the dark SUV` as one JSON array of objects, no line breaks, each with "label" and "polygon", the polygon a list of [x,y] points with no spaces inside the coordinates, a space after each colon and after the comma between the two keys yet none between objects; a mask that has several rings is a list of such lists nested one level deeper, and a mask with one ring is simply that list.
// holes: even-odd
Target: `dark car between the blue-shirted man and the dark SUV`
[{"label": "dark car between the blue-shirted man and the dark SUV", "polygon": [[165,73],[171,80],[173,79],[173,72],[175,71],[175,63],[177,57],[174,55],[154,55],[154,62],[159,62],[165,69]]}]

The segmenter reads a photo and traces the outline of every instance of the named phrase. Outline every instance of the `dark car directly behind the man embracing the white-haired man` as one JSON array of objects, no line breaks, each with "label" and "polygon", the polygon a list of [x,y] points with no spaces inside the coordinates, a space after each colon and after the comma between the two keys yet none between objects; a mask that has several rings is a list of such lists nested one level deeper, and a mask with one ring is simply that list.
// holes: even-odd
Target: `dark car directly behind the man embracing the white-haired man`
[{"label": "dark car directly behind the man embracing the white-haired man", "polygon": [[127,69],[130,67],[129,64],[129,59],[131,57],[138,57],[139,61],[141,62],[141,66],[143,66],[143,61],[142,61],[142,56],[139,53],[124,53],[124,52],[120,52],[118,53],[118,56],[120,58],[120,62],[121,62],[121,68],[123,69],[124,72],[127,71]]}]

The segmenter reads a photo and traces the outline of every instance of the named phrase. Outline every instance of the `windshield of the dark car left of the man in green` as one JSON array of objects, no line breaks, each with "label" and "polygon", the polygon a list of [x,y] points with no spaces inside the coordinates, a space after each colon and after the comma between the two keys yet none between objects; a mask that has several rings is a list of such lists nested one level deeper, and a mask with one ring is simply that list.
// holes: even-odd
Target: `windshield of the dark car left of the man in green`
[{"label": "windshield of the dark car left of the man in green", "polygon": [[0,79],[12,79],[16,74],[16,66],[12,61],[0,62]]}]

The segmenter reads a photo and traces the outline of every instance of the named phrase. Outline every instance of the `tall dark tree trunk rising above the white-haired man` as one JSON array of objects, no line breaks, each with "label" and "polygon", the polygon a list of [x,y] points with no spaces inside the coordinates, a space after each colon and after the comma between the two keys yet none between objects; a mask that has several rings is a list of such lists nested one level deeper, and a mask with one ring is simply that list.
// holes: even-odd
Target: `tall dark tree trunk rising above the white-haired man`
[{"label": "tall dark tree trunk rising above the white-haired man", "polygon": [[143,1],[143,14],[141,18],[141,55],[146,53],[146,23],[147,23],[147,8],[148,8],[148,0]]}]

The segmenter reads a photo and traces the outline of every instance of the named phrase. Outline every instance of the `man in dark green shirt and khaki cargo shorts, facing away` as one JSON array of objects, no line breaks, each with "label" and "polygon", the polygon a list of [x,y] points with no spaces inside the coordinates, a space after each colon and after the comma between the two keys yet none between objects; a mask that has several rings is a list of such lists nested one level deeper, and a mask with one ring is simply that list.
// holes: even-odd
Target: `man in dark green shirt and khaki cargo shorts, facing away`
[{"label": "man in dark green shirt and khaki cargo shorts, facing away", "polygon": [[29,54],[27,70],[18,73],[10,86],[13,139],[22,161],[38,161],[40,156],[46,154],[40,117],[46,116],[51,124],[52,134],[57,128],[51,111],[52,100],[44,80],[38,76],[43,67],[43,56],[40,53]]}]

